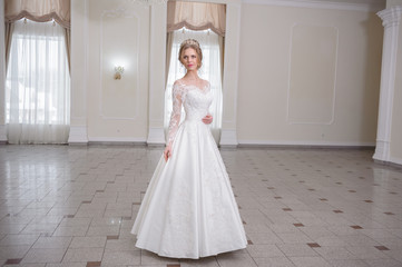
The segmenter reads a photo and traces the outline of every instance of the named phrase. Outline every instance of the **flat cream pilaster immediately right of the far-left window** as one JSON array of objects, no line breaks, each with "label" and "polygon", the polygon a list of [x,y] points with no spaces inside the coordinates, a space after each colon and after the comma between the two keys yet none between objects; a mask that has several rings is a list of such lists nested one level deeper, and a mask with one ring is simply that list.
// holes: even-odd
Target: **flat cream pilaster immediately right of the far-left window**
[{"label": "flat cream pilaster immediately right of the far-left window", "polygon": [[71,111],[68,144],[87,145],[88,0],[71,0]]}]

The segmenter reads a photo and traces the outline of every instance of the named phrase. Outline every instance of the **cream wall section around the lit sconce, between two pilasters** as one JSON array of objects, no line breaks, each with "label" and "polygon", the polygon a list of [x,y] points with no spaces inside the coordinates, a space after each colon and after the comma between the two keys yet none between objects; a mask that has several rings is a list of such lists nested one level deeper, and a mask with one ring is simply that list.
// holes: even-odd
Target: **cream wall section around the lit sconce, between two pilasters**
[{"label": "cream wall section around the lit sconce, between two pilasters", "polygon": [[89,0],[88,16],[88,139],[146,141],[149,7]]}]

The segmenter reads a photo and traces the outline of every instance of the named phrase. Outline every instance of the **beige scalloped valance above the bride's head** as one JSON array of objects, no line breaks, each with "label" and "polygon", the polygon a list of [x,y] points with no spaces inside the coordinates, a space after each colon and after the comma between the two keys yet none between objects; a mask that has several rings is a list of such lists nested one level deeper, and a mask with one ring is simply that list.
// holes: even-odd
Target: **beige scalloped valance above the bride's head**
[{"label": "beige scalloped valance above the bride's head", "polygon": [[167,32],[186,27],[190,30],[210,29],[225,36],[226,6],[206,2],[167,2]]}]

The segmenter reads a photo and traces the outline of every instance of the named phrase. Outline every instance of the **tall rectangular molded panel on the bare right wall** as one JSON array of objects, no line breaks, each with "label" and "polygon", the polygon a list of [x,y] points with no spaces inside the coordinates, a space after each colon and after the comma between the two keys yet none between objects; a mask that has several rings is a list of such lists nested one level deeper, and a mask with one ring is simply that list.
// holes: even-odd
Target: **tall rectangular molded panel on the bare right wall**
[{"label": "tall rectangular molded panel on the bare right wall", "polygon": [[292,29],[287,121],[330,125],[334,120],[337,29],[295,24]]}]

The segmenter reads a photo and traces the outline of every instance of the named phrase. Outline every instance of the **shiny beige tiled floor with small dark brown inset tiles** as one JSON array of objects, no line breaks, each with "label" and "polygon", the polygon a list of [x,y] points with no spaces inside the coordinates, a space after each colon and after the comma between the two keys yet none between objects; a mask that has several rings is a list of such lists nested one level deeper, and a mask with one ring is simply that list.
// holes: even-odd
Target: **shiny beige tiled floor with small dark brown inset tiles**
[{"label": "shiny beige tiled floor with small dark brown inset tiles", "polygon": [[372,150],[223,150],[247,249],[140,250],[129,230],[161,150],[0,146],[0,265],[402,266],[402,169]]}]

